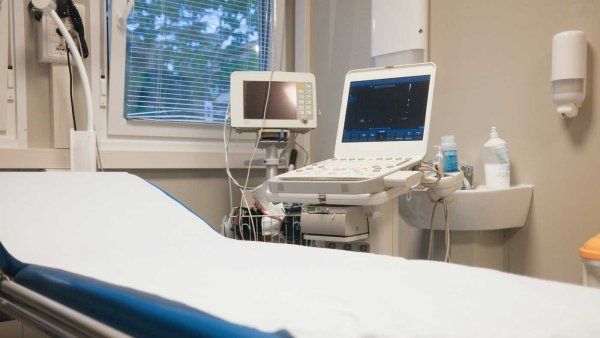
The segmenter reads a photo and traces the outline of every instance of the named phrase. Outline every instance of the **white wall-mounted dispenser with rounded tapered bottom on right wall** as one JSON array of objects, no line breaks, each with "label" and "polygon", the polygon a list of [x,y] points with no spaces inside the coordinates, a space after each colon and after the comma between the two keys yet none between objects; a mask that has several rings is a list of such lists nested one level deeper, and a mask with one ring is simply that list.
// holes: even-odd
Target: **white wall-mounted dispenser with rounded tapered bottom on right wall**
[{"label": "white wall-mounted dispenser with rounded tapered bottom on right wall", "polygon": [[552,38],[552,101],[563,117],[575,117],[586,93],[587,37],[581,31]]}]

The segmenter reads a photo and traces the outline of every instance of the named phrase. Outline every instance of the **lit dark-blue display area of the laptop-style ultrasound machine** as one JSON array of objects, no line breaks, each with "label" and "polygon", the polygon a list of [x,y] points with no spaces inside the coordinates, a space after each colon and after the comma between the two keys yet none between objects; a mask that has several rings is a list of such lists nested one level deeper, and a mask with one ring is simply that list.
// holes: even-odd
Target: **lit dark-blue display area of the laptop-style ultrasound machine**
[{"label": "lit dark-blue display area of the laptop-style ultrasound machine", "polygon": [[350,83],[342,142],[423,140],[429,75]]}]

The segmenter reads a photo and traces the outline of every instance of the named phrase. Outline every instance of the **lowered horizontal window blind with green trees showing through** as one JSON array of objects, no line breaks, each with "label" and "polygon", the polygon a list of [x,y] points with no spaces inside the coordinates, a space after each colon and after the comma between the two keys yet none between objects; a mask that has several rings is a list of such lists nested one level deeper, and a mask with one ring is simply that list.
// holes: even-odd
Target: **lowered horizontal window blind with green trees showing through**
[{"label": "lowered horizontal window blind with green trees showing through", "polygon": [[125,118],[223,123],[231,72],[270,66],[272,1],[136,1],[127,21]]}]

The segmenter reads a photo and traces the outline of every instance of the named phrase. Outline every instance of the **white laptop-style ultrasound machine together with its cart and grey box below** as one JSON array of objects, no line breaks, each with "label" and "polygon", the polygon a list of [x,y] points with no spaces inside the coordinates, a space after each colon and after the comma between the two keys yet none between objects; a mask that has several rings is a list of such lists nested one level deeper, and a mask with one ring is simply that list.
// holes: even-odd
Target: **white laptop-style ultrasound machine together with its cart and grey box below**
[{"label": "white laptop-style ultrasound machine together with its cart and grey box below", "polygon": [[303,204],[304,239],[397,255],[398,197],[423,180],[414,168],[427,152],[435,71],[422,63],[347,73],[334,157],[269,179],[271,201]]}]

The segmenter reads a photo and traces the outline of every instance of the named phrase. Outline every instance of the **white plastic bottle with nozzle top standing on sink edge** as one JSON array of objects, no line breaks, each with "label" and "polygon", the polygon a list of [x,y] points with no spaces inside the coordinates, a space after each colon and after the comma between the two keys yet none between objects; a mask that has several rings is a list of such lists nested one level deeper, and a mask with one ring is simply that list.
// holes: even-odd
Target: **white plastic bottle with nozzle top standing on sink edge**
[{"label": "white plastic bottle with nozzle top standing on sink edge", "polygon": [[506,141],[492,127],[490,139],[483,145],[485,185],[490,188],[510,187],[510,157]]}]

